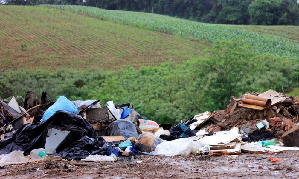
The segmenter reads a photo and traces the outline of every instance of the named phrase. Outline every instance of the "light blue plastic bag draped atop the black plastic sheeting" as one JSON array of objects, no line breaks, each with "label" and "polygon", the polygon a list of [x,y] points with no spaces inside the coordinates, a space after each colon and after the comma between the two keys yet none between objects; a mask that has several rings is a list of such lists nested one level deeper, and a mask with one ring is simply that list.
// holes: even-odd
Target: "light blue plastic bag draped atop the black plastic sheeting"
[{"label": "light blue plastic bag draped atop the black plastic sheeting", "polygon": [[64,110],[66,112],[77,114],[77,107],[66,97],[60,96],[56,102],[50,106],[42,116],[41,122],[49,119],[53,114],[55,114],[59,110]]}]

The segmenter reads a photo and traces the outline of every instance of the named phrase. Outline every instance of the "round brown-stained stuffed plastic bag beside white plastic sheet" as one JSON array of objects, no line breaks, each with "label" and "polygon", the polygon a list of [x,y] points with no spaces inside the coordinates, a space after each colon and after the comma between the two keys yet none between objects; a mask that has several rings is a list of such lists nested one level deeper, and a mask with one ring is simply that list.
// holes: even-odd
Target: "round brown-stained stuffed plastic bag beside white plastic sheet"
[{"label": "round brown-stained stuffed plastic bag beside white plastic sheet", "polygon": [[152,133],[143,133],[138,137],[134,147],[136,150],[140,150],[142,152],[152,152],[155,150],[157,145],[162,142],[163,140],[161,138],[156,137]]}]

